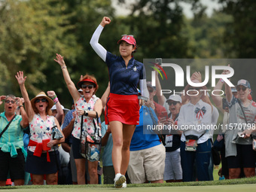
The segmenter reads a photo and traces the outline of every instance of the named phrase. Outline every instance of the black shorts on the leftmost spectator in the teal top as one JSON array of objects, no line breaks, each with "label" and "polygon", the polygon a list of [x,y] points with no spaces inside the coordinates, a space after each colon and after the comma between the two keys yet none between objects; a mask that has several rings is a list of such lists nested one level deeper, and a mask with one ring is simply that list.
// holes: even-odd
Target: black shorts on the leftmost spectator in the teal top
[{"label": "black shorts on the leftmost spectator in the teal top", "polygon": [[25,158],[20,148],[17,149],[17,157],[11,157],[10,152],[3,152],[0,148],[0,181],[6,181],[8,171],[11,180],[25,178]]}]

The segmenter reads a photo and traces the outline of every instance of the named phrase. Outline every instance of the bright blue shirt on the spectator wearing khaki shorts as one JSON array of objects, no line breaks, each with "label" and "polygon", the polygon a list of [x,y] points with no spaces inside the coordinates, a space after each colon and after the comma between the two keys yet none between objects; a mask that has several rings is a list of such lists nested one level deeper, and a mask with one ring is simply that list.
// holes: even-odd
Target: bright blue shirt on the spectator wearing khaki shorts
[{"label": "bright blue shirt on the spectator wearing khaki shorts", "polygon": [[[157,122],[157,115],[154,113],[152,108],[148,108],[145,105],[140,108],[139,125],[136,126],[136,130],[133,133],[130,151],[139,151],[142,149],[153,148],[154,146],[161,144],[157,134],[152,133],[150,130],[146,130],[147,125],[154,125],[153,120],[151,119],[151,114],[154,117],[154,121]],[[143,127],[145,129],[144,132]]]}]

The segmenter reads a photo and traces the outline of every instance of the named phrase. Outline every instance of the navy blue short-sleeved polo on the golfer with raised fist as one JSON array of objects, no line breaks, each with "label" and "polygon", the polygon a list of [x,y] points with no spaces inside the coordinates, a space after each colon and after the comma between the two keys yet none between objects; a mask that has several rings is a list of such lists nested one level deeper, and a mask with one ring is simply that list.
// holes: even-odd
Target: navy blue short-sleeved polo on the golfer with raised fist
[{"label": "navy blue short-sleeved polo on the golfer with raised fist", "polygon": [[122,56],[107,52],[105,62],[108,66],[110,93],[119,95],[137,95],[139,79],[146,78],[142,62],[130,59],[126,67]]}]

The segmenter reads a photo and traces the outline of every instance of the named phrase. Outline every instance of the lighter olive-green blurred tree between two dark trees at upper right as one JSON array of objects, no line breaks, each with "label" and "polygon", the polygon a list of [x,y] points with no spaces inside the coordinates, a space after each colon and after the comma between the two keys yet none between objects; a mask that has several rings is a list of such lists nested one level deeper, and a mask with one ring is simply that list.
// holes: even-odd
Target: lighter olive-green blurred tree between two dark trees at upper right
[{"label": "lighter olive-green blurred tree between two dark trees at upper right", "polygon": [[[186,20],[182,33],[189,39],[190,51],[195,58],[224,58],[227,43],[224,43],[224,32],[233,18],[230,15],[215,11],[211,17],[206,14]],[[191,53],[192,54],[192,53]]]}]

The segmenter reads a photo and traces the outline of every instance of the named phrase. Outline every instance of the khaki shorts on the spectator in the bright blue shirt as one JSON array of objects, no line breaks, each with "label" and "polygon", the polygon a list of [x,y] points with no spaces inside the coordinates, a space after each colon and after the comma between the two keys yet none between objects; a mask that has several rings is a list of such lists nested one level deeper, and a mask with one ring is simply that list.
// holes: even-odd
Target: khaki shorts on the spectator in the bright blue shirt
[{"label": "khaki shorts on the spectator in the bright blue shirt", "polygon": [[153,148],[130,151],[130,162],[127,169],[131,183],[163,179],[166,148],[160,144]]}]

